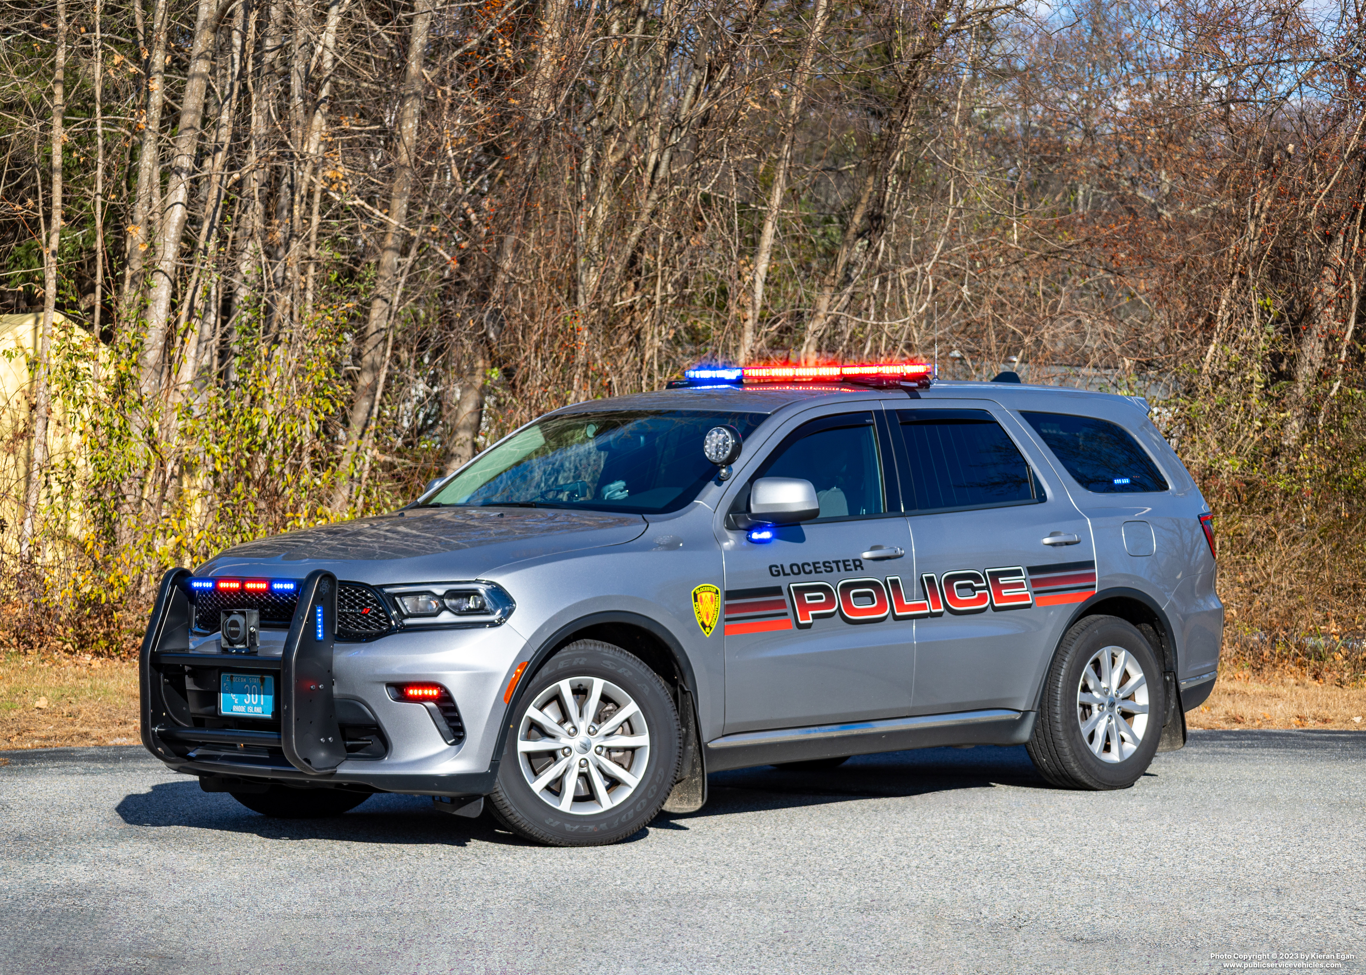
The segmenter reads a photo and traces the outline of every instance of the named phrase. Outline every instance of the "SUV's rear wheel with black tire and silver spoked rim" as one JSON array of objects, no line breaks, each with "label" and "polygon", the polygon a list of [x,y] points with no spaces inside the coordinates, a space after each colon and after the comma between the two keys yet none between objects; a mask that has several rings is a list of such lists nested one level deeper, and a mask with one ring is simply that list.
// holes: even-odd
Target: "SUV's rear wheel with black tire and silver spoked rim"
[{"label": "SUV's rear wheel with black tire and silver spoked rim", "polygon": [[1068,789],[1126,789],[1162,736],[1162,669],[1143,635],[1089,616],[1059,643],[1026,744],[1034,767]]}]

